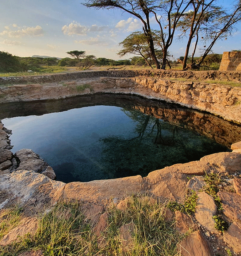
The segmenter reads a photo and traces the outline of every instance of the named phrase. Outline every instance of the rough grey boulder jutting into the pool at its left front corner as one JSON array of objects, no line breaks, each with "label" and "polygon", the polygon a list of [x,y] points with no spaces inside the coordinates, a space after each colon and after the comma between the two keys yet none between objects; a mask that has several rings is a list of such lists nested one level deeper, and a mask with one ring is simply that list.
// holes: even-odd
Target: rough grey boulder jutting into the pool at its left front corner
[{"label": "rough grey boulder jutting into the pool at its left front corner", "polygon": [[42,172],[48,164],[35,154],[31,149],[23,148],[15,153],[20,160],[19,167],[16,170],[32,170],[34,172]]}]

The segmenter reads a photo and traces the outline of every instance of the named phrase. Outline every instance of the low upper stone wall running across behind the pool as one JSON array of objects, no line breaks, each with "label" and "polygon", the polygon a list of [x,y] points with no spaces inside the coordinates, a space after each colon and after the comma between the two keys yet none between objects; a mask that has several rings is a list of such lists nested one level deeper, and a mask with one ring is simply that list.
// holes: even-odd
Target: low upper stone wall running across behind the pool
[{"label": "low upper stone wall running across behind the pool", "polygon": [[191,79],[191,80],[225,80],[241,82],[241,72],[237,71],[172,71],[172,70],[105,70],[105,71],[81,71],[66,74],[39,75],[39,76],[9,76],[0,77],[1,84],[28,84],[28,83],[54,83],[73,79],[96,77],[129,78],[135,76],[155,76],[167,79]]}]

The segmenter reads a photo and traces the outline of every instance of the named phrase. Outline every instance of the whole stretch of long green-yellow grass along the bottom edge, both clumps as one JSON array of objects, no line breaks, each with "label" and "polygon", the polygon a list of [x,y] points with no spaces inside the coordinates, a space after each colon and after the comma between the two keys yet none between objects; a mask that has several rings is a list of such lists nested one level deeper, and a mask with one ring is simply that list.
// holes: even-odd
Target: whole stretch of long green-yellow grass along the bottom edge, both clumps
[{"label": "whole stretch of long green-yellow grass along the bottom edge, both clumps", "polygon": [[[26,235],[19,242],[0,246],[0,256],[19,255],[41,249],[45,256],[110,255],[177,256],[178,243],[184,237],[175,229],[174,220],[164,218],[165,204],[153,203],[150,197],[126,198],[128,207],[107,208],[108,223],[103,231],[105,241],[98,243],[92,225],[85,221],[79,203],[59,203],[39,217],[35,235]],[[133,223],[132,244],[123,250],[120,227]]]}]

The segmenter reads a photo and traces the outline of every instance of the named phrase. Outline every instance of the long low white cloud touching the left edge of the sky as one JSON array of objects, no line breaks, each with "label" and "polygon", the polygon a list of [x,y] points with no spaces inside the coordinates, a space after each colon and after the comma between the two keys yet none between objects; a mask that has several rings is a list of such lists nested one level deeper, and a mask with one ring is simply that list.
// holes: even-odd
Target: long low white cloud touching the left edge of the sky
[{"label": "long low white cloud touching the left edge of the sky", "polygon": [[[17,26],[17,25],[16,25]],[[6,27],[5,27],[6,28]],[[3,30],[0,35],[7,35],[8,37],[24,37],[24,36],[42,36],[44,34],[41,26],[36,27],[25,27],[24,29],[18,30]]]}]

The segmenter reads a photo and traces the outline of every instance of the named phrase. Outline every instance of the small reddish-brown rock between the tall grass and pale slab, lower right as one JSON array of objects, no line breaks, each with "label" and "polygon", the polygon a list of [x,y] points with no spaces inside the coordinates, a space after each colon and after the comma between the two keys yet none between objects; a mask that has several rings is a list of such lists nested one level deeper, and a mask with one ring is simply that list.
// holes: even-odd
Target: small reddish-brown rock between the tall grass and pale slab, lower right
[{"label": "small reddish-brown rock between the tall grass and pale slab, lower right", "polygon": [[194,229],[194,223],[187,214],[180,211],[175,211],[175,218],[176,218],[175,227],[176,227],[176,230],[179,231],[180,233],[185,234],[188,231],[191,231],[192,229]]}]

